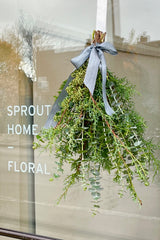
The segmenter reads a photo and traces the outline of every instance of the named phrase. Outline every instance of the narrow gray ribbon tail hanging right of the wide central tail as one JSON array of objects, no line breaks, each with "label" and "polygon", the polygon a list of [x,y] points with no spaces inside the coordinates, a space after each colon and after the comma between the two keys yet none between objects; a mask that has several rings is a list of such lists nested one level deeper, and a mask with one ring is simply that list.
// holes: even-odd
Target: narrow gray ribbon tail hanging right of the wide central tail
[{"label": "narrow gray ribbon tail hanging right of the wide central tail", "polygon": [[115,112],[110,107],[108,100],[107,100],[107,93],[106,93],[106,73],[107,73],[107,66],[106,61],[103,52],[100,54],[101,58],[101,74],[102,74],[102,93],[103,93],[103,101],[104,101],[104,107],[105,111],[109,116],[112,116]]}]

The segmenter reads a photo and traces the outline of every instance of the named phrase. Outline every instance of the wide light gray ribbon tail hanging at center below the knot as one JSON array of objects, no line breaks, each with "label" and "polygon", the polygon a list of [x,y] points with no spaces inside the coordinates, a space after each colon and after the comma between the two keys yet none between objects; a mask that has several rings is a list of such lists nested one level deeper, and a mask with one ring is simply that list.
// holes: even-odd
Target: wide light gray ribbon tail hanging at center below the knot
[{"label": "wide light gray ribbon tail hanging at center below the knot", "polygon": [[85,79],[84,79],[84,84],[89,89],[89,91],[92,95],[94,93],[94,89],[95,89],[95,85],[96,85],[99,63],[100,63],[100,59],[97,54],[97,51],[95,48],[92,48],[86,75],[85,75]]}]

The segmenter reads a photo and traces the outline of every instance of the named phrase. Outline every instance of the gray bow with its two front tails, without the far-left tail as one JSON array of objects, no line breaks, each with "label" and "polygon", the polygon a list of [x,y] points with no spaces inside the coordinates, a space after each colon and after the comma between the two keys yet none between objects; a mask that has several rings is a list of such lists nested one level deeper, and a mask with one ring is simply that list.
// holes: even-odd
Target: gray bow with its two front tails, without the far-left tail
[{"label": "gray bow with its two front tails, without the far-left tail", "polygon": [[113,47],[113,45],[109,42],[96,43],[96,45],[92,44],[91,46],[84,49],[84,51],[77,57],[72,58],[72,64],[78,69],[83,63],[89,58],[88,67],[84,79],[84,84],[89,89],[90,93],[93,95],[96,79],[98,74],[98,68],[101,70],[102,74],[102,94],[103,101],[105,106],[106,113],[111,116],[114,111],[110,107],[107,97],[106,97],[106,73],[107,66],[103,52],[110,53],[112,55],[116,55],[117,51]]}]

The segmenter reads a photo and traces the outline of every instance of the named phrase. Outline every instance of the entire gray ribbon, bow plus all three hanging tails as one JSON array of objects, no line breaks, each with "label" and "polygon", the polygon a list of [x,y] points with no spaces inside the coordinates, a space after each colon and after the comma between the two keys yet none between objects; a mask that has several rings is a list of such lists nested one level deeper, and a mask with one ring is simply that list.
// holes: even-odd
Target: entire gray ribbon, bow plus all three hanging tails
[{"label": "entire gray ribbon, bow plus all three hanging tails", "polygon": [[[114,111],[110,107],[107,97],[106,97],[106,73],[107,73],[107,66],[106,61],[103,52],[110,53],[112,55],[116,55],[117,51],[113,47],[113,45],[109,42],[104,42],[101,44],[92,44],[91,46],[85,48],[82,53],[71,59],[72,64],[78,69],[80,68],[84,62],[89,58],[86,75],[84,79],[84,84],[89,89],[90,93],[93,95],[95,85],[96,85],[96,79],[98,74],[98,68],[101,70],[102,74],[102,93],[103,93],[103,101],[105,106],[106,113],[111,116]],[[61,110],[60,103],[63,101],[63,99],[67,96],[66,87],[69,85],[69,83],[72,81],[71,75],[69,76],[63,90],[61,91],[59,97],[57,98],[56,102],[53,104],[51,112],[48,116],[48,119],[45,123],[44,128],[48,129],[50,127],[55,127],[56,122],[53,120],[53,117],[57,112]]]}]

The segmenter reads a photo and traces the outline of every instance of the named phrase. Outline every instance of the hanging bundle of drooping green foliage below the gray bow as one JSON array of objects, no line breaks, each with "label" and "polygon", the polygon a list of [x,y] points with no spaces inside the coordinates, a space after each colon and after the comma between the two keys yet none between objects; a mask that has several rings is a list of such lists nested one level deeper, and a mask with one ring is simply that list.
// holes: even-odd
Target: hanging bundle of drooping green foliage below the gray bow
[{"label": "hanging bundle of drooping green foliage below the gray bow", "polygon": [[160,165],[154,156],[156,145],[145,140],[144,120],[134,109],[134,87],[126,79],[107,72],[107,97],[115,111],[110,117],[104,110],[101,74],[98,73],[92,97],[83,84],[86,67],[87,63],[73,73],[61,112],[54,118],[57,126],[42,129],[34,148],[52,152],[55,147],[57,172],[53,178],[63,174],[64,163],[70,165],[59,201],[73,184],[81,182],[83,189],[91,192],[94,209],[99,208],[101,171],[107,171],[113,172],[113,181],[125,186],[132,198],[142,204],[133,180],[136,178],[148,186],[150,166],[156,174]]}]

